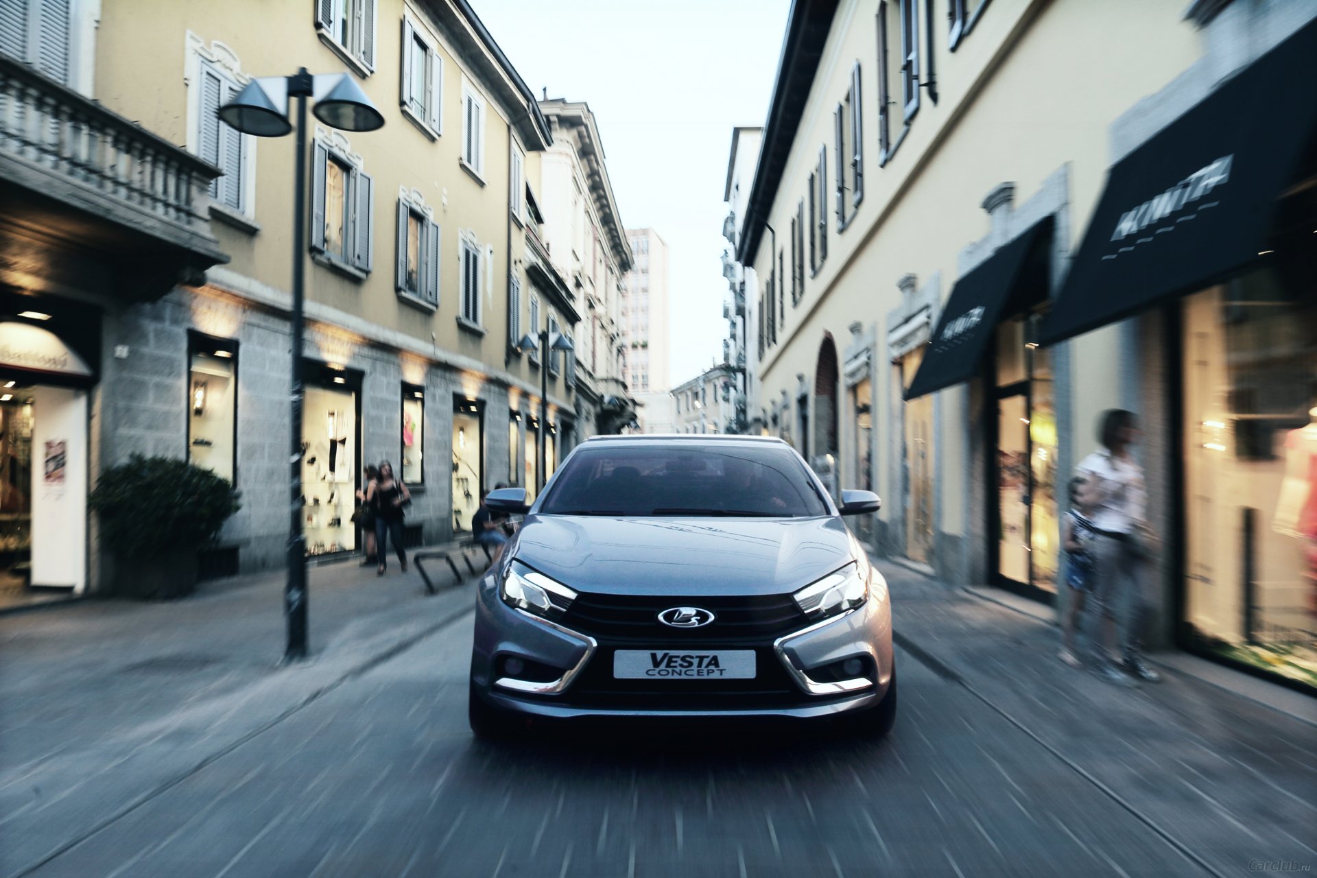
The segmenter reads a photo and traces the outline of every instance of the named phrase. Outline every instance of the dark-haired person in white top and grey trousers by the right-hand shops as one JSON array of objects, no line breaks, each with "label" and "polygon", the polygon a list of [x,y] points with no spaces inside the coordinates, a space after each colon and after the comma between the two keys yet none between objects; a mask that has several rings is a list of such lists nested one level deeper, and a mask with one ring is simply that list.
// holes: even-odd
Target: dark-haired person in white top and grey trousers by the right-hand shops
[{"label": "dark-haired person in white top and grey trousers by the right-hand shops", "polygon": [[[1093,492],[1093,609],[1101,627],[1094,658],[1097,673],[1113,683],[1127,683],[1125,673],[1154,683],[1162,679],[1142,658],[1148,621],[1148,562],[1155,538],[1147,524],[1147,484],[1143,467],[1131,454],[1139,436],[1138,417],[1113,408],[1102,413],[1101,448],[1085,457],[1076,471]],[[1117,609],[1125,608],[1125,625],[1117,628]],[[1112,661],[1119,646],[1119,663]],[[1125,671],[1125,673],[1122,673]]]}]

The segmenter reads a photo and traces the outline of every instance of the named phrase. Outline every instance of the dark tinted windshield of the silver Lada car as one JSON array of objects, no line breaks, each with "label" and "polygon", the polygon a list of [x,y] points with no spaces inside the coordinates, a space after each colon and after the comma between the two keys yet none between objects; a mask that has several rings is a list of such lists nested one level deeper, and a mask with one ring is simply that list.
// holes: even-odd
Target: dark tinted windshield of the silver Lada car
[{"label": "dark tinted windshield of the silver Lada car", "polygon": [[801,517],[828,515],[801,461],[778,445],[582,448],[544,515]]}]

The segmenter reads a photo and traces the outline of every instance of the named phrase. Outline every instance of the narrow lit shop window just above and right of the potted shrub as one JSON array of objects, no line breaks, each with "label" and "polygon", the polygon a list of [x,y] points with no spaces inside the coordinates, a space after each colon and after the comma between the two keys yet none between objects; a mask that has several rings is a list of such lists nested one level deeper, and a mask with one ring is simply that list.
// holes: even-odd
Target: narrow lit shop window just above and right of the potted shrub
[{"label": "narrow lit shop window just above and right of the potted shrub", "polygon": [[188,334],[187,459],[236,482],[237,342]]}]

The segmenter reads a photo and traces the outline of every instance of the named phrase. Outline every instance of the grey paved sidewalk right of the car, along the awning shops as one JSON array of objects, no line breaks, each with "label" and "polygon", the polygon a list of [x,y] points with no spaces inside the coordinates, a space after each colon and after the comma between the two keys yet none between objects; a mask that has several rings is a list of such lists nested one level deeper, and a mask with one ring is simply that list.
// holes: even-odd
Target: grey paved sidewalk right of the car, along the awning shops
[{"label": "grey paved sidewalk right of the car, along the awning shops", "polygon": [[[1239,850],[1317,866],[1313,725],[1180,673],[1112,686],[1063,665],[1058,631],[1044,619],[877,566],[898,642],[1087,775],[1094,795],[1217,874],[1249,870]],[[918,695],[903,690],[901,710],[918,723]],[[1002,774],[1008,792],[1013,781]]]}]

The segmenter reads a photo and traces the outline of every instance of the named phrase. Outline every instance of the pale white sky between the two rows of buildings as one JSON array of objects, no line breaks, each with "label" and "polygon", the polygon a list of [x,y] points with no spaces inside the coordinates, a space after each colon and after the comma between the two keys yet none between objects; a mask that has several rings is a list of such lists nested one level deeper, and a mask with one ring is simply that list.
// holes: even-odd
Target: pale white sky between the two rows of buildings
[{"label": "pale white sky between the two rows of buildings", "polygon": [[673,387],[722,359],[732,128],[763,125],[789,0],[471,0],[539,97],[594,111],[627,228],[669,247]]}]

